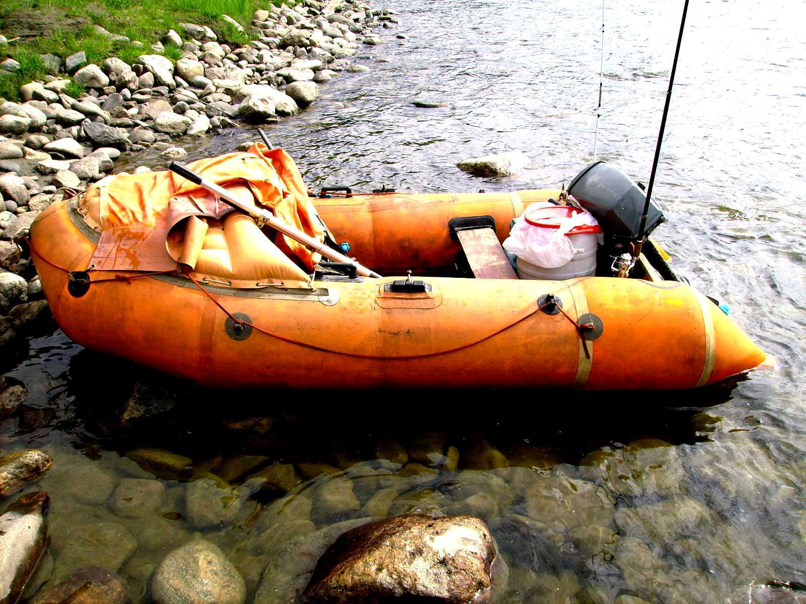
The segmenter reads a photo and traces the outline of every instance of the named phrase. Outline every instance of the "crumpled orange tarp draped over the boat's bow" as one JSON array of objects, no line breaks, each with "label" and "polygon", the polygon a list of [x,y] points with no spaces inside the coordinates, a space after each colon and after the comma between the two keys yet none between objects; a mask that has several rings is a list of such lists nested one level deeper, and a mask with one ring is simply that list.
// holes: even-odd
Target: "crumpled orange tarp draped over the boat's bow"
[{"label": "crumpled orange tarp draped over the boat's bow", "polygon": [[[258,205],[319,241],[324,227],[308,198],[293,159],[262,143],[245,153],[229,153],[189,163],[194,172],[224,187],[246,185]],[[166,238],[173,225],[189,216],[220,218],[231,207],[206,189],[173,172],[110,176],[93,184],[81,206],[101,219],[101,241],[93,254],[97,270],[165,271],[177,266]],[[97,207],[95,209],[93,206]],[[281,249],[297,256],[309,270],[320,259],[301,243],[277,234]]]}]

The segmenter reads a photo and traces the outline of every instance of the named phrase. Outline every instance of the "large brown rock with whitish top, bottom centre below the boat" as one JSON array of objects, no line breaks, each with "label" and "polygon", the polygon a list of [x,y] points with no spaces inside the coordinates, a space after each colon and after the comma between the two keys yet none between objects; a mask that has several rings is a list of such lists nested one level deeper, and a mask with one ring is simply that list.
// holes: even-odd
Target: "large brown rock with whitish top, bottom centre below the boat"
[{"label": "large brown rock with whitish top, bottom centre below the boat", "polygon": [[305,598],[332,604],[488,602],[495,555],[480,519],[395,516],[340,536],[319,559]]}]

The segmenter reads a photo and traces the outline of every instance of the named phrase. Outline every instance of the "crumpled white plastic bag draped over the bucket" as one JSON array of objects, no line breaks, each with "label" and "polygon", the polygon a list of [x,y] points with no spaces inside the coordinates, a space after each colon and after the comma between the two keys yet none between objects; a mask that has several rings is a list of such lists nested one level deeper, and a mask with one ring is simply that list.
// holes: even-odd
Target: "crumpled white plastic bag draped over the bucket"
[{"label": "crumpled white plastic bag draped over the bucket", "polygon": [[563,267],[571,262],[575,249],[571,237],[566,234],[575,226],[598,225],[596,218],[588,211],[575,213],[564,218],[557,229],[530,225],[524,216],[536,208],[557,207],[548,201],[537,201],[530,204],[526,211],[515,219],[509,237],[502,244],[510,254],[526,260],[527,263],[543,268]]}]

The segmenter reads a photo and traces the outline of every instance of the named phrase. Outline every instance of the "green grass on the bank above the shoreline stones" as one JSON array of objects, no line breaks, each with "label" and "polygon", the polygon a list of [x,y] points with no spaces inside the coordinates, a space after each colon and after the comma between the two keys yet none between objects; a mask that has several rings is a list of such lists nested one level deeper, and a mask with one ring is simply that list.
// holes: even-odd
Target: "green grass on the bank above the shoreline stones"
[{"label": "green grass on the bank above the shoreline stones", "polygon": [[[2,0],[0,2],[0,33],[8,38],[15,31],[3,28],[3,19],[15,14],[42,14],[60,21],[80,17],[87,20],[84,27],[56,30],[51,35],[31,36],[0,47],[0,61],[11,56],[21,68],[11,77],[0,77],[0,96],[17,100],[18,89],[31,80],[41,79],[47,70],[39,59],[40,54],[50,53],[62,59],[75,52],[84,51],[87,61],[102,64],[109,56],[117,56],[133,63],[138,56],[153,54],[149,45],[163,41],[169,29],[184,37],[179,23],[206,25],[215,31],[219,42],[247,44],[254,32],[251,17],[255,10],[269,4],[293,6],[296,0]],[[222,21],[227,14],[246,28],[239,31],[230,23]],[[94,26],[100,25],[114,34],[126,35],[142,42],[139,48],[131,43],[112,42],[98,34]],[[176,61],[181,58],[181,48],[166,44],[164,56]]]}]

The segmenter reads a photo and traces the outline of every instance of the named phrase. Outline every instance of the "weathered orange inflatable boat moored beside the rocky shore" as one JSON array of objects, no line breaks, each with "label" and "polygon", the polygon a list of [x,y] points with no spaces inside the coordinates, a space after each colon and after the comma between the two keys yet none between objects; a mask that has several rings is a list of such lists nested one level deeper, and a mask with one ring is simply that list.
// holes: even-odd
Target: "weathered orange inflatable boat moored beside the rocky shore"
[{"label": "weathered orange inflatable boat moored beside the rocky shore", "polygon": [[[600,276],[518,279],[501,242],[559,190],[312,199],[288,155],[260,145],[190,167],[388,276],[326,263],[171,172],[109,176],[31,226],[74,341],[217,387],[678,389],[765,359],[650,242],[629,278],[608,260]],[[609,168],[569,188],[583,207],[591,170]],[[600,219],[600,256],[625,249],[621,206],[600,212],[620,215]],[[648,224],[662,220],[653,206]]]}]

